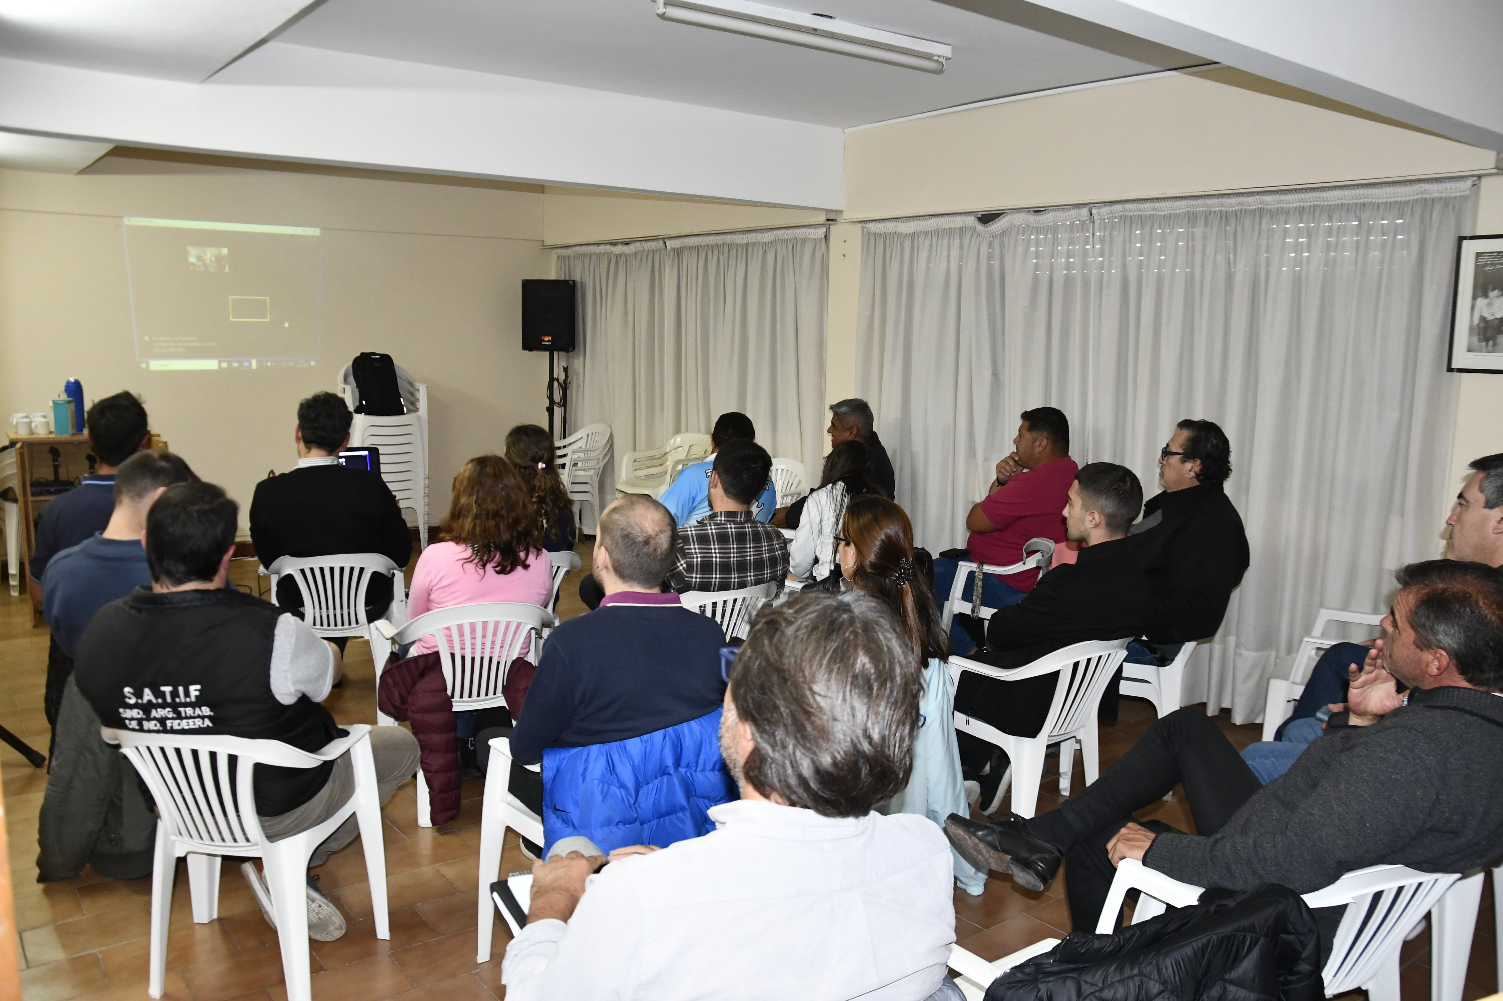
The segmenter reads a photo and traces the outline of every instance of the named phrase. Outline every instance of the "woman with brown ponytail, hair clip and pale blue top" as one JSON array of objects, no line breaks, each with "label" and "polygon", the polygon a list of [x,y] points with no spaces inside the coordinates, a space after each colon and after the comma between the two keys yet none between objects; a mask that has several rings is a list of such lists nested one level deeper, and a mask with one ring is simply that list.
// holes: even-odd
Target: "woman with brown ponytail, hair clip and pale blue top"
[{"label": "woman with brown ponytail, hair clip and pale blue top", "polygon": [[[960,749],[954,737],[954,681],[945,668],[950,638],[939,624],[929,585],[914,563],[914,527],[908,512],[885,497],[857,497],[846,504],[836,542],[840,546],[840,575],[854,590],[891,609],[912,647],[914,669],[924,678],[914,773],[908,788],[893,797],[882,812],[917,813],[939,827],[950,813],[969,816]],[[986,873],[957,852],[954,878],[971,896],[980,896],[986,887]]]}]

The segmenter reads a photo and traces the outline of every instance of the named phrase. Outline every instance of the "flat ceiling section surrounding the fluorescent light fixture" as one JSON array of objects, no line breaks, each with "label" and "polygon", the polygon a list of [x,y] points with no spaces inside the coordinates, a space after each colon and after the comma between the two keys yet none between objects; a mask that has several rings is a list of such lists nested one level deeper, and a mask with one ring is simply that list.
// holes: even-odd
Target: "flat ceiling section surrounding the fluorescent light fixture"
[{"label": "flat ceiling section surrounding the fluorescent light fixture", "polygon": [[[942,75],[660,21],[652,0],[328,0],[277,39],[849,128],[1205,63],[1084,21],[1097,47],[933,0],[774,0],[954,48]],[[1031,5],[1010,6],[1028,20]]]}]

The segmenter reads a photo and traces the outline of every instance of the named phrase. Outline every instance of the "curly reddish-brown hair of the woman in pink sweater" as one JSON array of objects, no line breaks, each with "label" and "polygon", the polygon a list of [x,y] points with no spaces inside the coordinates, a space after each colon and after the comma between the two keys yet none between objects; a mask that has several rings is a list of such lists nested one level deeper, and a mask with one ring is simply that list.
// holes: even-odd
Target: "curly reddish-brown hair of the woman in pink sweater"
[{"label": "curly reddish-brown hair of the woman in pink sweater", "polygon": [[469,546],[466,563],[500,575],[526,569],[528,557],[543,549],[543,527],[528,489],[499,455],[481,455],[460,467],[439,537]]}]

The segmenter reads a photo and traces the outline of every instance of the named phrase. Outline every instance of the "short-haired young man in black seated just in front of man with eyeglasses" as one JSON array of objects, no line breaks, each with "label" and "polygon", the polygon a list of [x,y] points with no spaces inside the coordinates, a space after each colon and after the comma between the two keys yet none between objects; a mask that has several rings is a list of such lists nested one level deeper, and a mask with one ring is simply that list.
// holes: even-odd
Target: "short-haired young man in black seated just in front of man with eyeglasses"
[{"label": "short-haired young man in black seated just in front of man with eyeglasses", "polygon": [[[1021,668],[1075,642],[1142,635],[1153,599],[1126,537],[1141,507],[1142,486],[1132,470],[1112,462],[1082,467],[1064,509],[1066,534],[1081,543],[1079,560],[1054,567],[1024,600],[996,609],[986,627],[990,651],[972,659]],[[1031,737],[1043,726],[1057,680],[1049,674],[996,681],[966,672],[954,708],[1003,732]],[[969,734],[956,737],[960,761],[977,776],[986,807],[1001,782],[1004,764],[995,758],[1001,752]]]}]

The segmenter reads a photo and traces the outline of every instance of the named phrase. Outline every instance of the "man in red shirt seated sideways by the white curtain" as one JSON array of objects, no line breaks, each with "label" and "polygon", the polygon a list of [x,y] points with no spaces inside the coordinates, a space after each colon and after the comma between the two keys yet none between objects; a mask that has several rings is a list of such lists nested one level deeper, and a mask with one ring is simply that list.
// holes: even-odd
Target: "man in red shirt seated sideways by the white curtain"
[{"label": "man in red shirt seated sideways by the white curtain", "polygon": [[[1064,504],[1070,483],[1079,467],[1070,458],[1070,422],[1054,407],[1025,410],[1013,452],[996,464],[996,479],[986,498],[971,507],[965,527],[971,531],[966,552],[977,563],[1010,566],[1024,558],[1024,543],[1030,539],[1064,542]],[[935,558],[935,594],[948,600],[960,558],[950,551]],[[1027,597],[1039,581],[1039,570],[1024,570],[998,576],[981,575],[981,605],[1003,608]],[[974,575],[966,575],[965,594],[974,587]],[[966,632],[962,617],[950,623],[950,644],[954,653],[975,650],[975,639]]]}]

